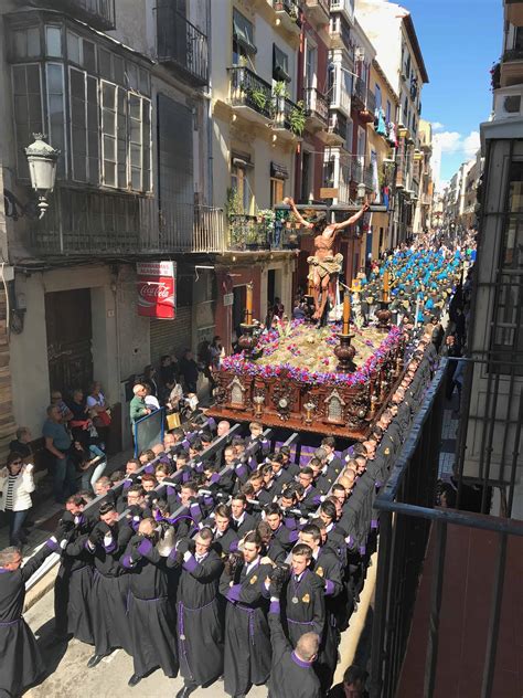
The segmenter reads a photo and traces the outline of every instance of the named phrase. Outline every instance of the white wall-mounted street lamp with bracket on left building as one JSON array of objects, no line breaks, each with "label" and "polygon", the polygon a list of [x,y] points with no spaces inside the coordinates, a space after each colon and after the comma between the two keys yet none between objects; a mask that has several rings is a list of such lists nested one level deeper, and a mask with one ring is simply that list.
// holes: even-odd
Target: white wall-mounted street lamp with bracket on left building
[{"label": "white wall-mounted street lamp with bracket on left building", "polygon": [[38,203],[30,201],[23,204],[9,189],[4,189],[6,215],[14,221],[24,215],[30,219],[42,219],[49,209],[47,195],[54,189],[60,150],[55,150],[45,142],[43,134],[33,134],[33,138],[34,142],[24,150],[28,158],[31,187],[36,192],[39,200]]}]

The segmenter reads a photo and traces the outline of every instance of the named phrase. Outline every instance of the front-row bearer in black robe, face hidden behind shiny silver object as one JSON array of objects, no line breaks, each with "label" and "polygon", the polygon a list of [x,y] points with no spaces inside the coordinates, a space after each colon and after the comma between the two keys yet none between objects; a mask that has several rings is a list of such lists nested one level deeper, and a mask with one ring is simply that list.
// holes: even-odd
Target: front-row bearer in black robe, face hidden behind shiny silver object
[{"label": "front-row bearer in black robe, face hidden behind shiny silver object", "polygon": [[174,618],[168,594],[168,571],[150,540],[135,536],[121,558],[129,574],[129,628],[131,655],[137,676],[161,668],[178,675]]}]

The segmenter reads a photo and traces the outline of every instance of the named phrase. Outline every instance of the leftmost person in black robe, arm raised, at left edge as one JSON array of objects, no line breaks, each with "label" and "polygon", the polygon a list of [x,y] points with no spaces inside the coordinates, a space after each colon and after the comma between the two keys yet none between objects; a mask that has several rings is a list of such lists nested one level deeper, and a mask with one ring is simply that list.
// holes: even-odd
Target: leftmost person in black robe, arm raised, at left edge
[{"label": "leftmost person in black robe, arm raised, at left edge", "polygon": [[22,617],[25,582],[52,550],[44,546],[20,569],[0,568],[0,695],[19,696],[45,671],[36,638]]}]

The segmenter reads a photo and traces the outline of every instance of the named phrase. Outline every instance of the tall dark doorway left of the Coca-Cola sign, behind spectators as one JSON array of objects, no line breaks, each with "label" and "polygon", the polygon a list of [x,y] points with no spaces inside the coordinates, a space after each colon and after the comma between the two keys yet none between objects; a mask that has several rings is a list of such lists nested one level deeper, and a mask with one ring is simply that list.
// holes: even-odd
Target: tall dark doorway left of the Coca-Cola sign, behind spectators
[{"label": "tall dark doorway left of the Coca-Cola sign, behind spectators", "polygon": [[50,390],[68,396],[93,380],[90,288],[45,294]]}]

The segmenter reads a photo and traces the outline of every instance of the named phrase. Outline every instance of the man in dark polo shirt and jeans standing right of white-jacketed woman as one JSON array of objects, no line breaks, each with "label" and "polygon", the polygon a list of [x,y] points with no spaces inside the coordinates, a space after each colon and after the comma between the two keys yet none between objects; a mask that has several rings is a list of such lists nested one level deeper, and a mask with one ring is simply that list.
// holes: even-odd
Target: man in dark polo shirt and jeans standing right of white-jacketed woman
[{"label": "man in dark polo shirt and jeans standing right of white-jacketed woman", "polygon": [[62,423],[62,416],[56,405],[47,408],[47,419],[42,434],[45,448],[54,456],[54,498],[64,504],[67,497],[76,491],[76,472],[68,452],[72,438]]}]

